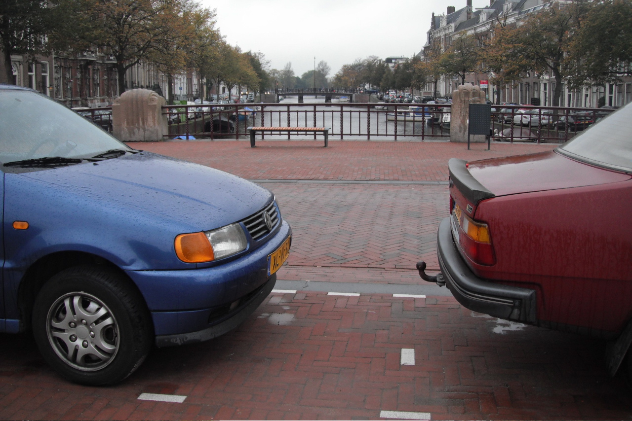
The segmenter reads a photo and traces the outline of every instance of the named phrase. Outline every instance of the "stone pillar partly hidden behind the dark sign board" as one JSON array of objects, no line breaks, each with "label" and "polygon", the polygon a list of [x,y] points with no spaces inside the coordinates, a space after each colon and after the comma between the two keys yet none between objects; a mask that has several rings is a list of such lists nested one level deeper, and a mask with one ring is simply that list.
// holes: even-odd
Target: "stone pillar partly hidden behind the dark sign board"
[{"label": "stone pillar partly hidden behind the dark sign board", "polygon": [[[450,141],[468,141],[468,119],[470,118],[470,104],[485,104],[485,92],[480,86],[473,86],[471,83],[459,85],[457,90],[452,92],[452,107],[450,110]],[[470,142],[484,142],[485,136],[482,134],[472,134]]]}]

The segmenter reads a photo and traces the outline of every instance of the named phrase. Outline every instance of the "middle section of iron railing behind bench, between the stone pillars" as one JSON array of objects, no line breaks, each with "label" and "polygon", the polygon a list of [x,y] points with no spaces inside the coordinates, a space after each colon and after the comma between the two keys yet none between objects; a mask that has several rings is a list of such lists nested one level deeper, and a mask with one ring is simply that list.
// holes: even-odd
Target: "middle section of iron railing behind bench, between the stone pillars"
[{"label": "middle section of iron railing behind bench, between the stone pillars", "polygon": [[[204,104],[167,105],[163,110],[171,122],[169,138],[239,139],[248,134],[248,126],[327,127],[330,139],[348,140],[449,137],[449,104]],[[290,138],[289,133],[280,136]],[[310,136],[315,134],[292,138]]]}]

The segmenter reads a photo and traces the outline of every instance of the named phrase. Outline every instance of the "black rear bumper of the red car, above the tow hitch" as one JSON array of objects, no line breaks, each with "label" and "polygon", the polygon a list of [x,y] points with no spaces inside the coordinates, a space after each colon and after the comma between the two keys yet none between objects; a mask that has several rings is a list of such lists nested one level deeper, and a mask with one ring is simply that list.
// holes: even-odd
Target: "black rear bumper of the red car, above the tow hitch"
[{"label": "black rear bumper of the red car, above the tow hitch", "polygon": [[467,309],[520,323],[537,323],[535,290],[483,280],[463,261],[452,237],[450,218],[437,232],[437,256],[447,288]]}]

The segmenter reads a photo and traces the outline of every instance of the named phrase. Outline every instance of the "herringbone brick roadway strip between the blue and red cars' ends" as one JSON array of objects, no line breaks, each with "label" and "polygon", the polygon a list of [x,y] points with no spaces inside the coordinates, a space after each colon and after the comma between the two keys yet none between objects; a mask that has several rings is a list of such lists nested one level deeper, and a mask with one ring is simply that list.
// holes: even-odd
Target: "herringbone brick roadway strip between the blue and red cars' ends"
[{"label": "herringbone brick roadway strip between the blue and red cars' ends", "polygon": [[[294,230],[288,266],[438,270],[445,186],[265,184]],[[284,278],[285,279],[285,278]]]}]

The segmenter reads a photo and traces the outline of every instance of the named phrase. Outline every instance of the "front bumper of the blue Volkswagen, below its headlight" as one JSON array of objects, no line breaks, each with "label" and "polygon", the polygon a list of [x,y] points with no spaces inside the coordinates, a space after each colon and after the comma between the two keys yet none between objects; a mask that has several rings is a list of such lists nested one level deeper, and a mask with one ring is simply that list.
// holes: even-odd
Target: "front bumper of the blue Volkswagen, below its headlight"
[{"label": "front bumper of the blue Volkswagen, below its headlight", "polygon": [[209,340],[245,320],[274,287],[276,274],[268,276],[267,259],[291,234],[283,221],[261,247],[209,268],[127,271],[151,312],[156,344]]}]

